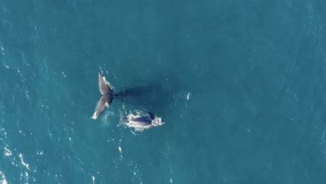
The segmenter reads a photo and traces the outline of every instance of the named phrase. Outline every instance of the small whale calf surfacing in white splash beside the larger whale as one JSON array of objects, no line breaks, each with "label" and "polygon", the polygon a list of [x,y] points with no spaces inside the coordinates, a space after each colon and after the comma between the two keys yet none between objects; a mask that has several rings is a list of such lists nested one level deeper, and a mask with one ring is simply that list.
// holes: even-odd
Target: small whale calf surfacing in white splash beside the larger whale
[{"label": "small whale calf surfacing in white splash beside the larger whale", "polygon": [[122,123],[126,122],[129,125],[132,125],[134,127],[139,127],[139,128],[146,128],[152,125],[152,121],[155,118],[154,114],[151,112],[147,112],[146,116],[141,116],[138,118],[131,118],[128,119],[126,117],[123,116],[122,112],[120,112],[120,116],[121,116],[121,122],[119,123],[119,125],[121,125]]}]

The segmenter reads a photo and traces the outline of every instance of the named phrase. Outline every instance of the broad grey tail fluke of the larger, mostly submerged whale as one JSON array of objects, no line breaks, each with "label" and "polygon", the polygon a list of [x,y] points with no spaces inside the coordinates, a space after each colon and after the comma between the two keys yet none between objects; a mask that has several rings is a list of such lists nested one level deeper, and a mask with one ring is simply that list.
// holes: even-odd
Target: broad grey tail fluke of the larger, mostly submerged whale
[{"label": "broad grey tail fluke of the larger, mostly submerged whale", "polygon": [[100,114],[102,114],[102,112],[104,112],[104,110],[111,105],[111,102],[114,99],[114,92],[112,91],[109,82],[107,82],[105,77],[100,74],[100,72],[98,73],[98,86],[102,96],[100,100],[98,100],[98,107],[92,116],[93,119],[98,118],[98,116],[100,116]]}]

